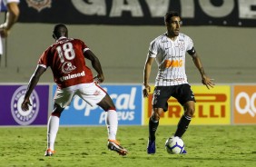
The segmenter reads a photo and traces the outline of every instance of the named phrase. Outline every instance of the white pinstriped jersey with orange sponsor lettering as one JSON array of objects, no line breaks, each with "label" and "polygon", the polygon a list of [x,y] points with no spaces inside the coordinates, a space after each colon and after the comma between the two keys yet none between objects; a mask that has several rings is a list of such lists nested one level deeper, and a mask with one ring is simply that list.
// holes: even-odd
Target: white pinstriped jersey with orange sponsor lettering
[{"label": "white pinstriped jersey with orange sponsor lettering", "polygon": [[151,42],[148,56],[154,57],[158,64],[155,86],[188,83],[185,73],[185,56],[192,47],[192,39],[181,33],[175,41],[167,37],[167,34],[162,34]]}]

